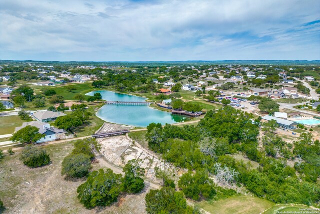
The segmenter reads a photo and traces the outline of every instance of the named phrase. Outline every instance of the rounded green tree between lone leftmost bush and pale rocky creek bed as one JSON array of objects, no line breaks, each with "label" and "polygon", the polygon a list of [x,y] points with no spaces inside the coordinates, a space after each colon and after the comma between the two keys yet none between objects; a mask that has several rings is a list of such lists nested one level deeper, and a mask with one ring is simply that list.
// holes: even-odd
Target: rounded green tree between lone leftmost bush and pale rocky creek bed
[{"label": "rounded green tree between lone leftmost bush and pale rocky creek bed", "polygon": [[87,176],[90,168],[89,155],[83,153],[69,154],[62,161],[61,174],[72,178],[84,177]]}]

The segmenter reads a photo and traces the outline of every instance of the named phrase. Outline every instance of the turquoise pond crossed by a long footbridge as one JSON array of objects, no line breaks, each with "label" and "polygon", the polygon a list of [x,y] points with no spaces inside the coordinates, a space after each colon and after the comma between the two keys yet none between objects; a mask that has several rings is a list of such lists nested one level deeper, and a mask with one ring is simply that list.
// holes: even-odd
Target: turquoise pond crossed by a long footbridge
[{"label": "turquoise pond crossed by a long footbridge", "polygon": [[[146,98],[137,97],[128,94],[120,94],[112,91],[92,91],[86,95],[93,96],[94,93],[99,92],[102,99],[107,101],[137,101],[143,102]],[[132,125],[136,127],[146,127],[150,123],[178,123],[189,120],[187,117],[180,115],[173,115],[166,111],[160,111],[150,108],[147,105],[143,106],[129,106],[129,105],[104,105],[102,106],[96,116],[104,121]]]}]

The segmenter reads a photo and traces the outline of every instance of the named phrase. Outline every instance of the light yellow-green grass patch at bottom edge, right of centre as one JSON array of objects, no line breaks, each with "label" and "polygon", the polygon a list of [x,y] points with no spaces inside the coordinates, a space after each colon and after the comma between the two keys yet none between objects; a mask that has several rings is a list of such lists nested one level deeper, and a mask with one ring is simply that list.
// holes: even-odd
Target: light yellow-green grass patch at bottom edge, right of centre
[{"label": "light yellow-green grass patch at bottom edge, right of centre", "polygon": [[197,204],[204,210],[214,214],[256,214],[274,205],[268,200],[246,195],[236,195],[217,201],[203,200]]}]

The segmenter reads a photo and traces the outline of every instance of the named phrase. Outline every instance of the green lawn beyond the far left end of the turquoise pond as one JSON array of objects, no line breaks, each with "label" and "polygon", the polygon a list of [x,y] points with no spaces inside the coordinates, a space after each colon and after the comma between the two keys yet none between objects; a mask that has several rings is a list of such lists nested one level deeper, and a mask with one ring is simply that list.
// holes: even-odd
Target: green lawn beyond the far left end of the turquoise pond
[{"label": "green lawn beyond the far left end of the turquoise pond", "polygon": [[[68,91],[68,87],[74,87],[75,90]],[[84,95],[90,91],[93,91],[94,88],[91,87],[91,83],[81,83],[81,84],[71,84],[71,85],[64,85],[59,87],[51,87],[55,90],[57,95],[62,95],[65,100],[75,100],[74,96],[78,93]],[[89,96],[85,96],[89,97]]]}]

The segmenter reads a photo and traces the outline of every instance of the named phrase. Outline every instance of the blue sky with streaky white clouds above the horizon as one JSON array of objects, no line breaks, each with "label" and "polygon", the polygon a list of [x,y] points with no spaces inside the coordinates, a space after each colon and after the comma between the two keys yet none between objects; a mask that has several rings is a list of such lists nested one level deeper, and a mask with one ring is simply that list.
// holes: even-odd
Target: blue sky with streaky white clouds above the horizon
[{"label": "blue sky with streaky white clouds above the horizon", "polygon": [[0,0],[0,59],[320,60],[320,1]]}]

